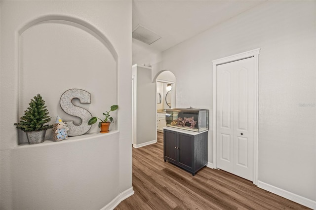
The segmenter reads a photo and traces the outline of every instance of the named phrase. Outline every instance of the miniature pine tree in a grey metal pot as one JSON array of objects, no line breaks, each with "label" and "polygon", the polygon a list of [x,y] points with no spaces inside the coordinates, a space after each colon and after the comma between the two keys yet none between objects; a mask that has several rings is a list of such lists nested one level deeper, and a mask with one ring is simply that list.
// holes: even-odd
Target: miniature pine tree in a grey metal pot
[{"label": "miniature pine tree in a grey metal pot", "polygon": [[29,103],[20,122],[14,125],[26,133],[29,144],[41,143],[44,141],[46,130],[53,127],[53,125],[45,125],[51,119],[48,114],[45,101],[38,94]]}]

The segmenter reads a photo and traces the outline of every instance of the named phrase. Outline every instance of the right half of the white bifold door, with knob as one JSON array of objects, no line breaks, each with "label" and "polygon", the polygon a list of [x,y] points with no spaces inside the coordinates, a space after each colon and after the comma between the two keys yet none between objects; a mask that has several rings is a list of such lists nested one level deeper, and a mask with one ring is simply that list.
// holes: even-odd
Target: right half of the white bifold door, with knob
[{"label": "right half of the white bifold door, with knob", "polygon": [[[240,60],[234,65],[234,174],[253,180],[254,154],[254,58]],[[242,108],[244,107],[244,108]]]}]

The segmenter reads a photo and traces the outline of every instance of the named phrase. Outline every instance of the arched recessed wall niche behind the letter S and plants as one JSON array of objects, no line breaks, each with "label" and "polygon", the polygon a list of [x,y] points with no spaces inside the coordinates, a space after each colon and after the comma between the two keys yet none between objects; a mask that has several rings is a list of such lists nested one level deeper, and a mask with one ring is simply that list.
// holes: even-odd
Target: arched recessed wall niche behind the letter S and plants
[{"label": "arched recessed wall niche behind the letter S and plants", "polygon": [[[78,117],[65,113],[59,105],[61,95],[79,88],[91,93],[91,104],[83,107],[93,116],[101,117],[111,105],[117,104],[118,54],[107,37],[90,23],[69,16],[42,16],[25,24],[18,31],[19,117],[38,93],[46,102],[51,123],[59,115],[63,121]],[[106,86],[111,91],[104,93]],[[116,118],[116,113],[113,113]],[[112,124],[112,129],[116,124]],[[89,133],[97,132],[92,126]],[[25,135],[19,135],[25,142]],[[22,138],[21,138],[22,137]],[[46,139],[50,139],[47,132]]]}]

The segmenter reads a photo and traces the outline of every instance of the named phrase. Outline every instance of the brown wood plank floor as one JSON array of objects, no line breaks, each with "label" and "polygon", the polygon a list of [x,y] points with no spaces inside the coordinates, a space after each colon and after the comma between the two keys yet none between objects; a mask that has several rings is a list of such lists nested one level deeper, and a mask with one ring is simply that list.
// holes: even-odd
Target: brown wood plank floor
[{"label": "brown wood plank floor", "polygon": [[195,176],[163,161],[158,142],[133,148],[135,194],[116,210],[304,210],[297,203],[230,173],[204,167]]}]

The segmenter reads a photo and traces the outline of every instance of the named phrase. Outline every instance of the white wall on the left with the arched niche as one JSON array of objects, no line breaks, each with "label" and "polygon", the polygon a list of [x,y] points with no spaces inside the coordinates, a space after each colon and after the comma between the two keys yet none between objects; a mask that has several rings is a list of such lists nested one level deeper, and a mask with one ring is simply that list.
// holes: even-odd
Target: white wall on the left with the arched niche
[{"label": "white wall on the left with the arched niche", "polygon": [[[101,209],[132,193],[131,6],[1,1],[1,209]],[[13,123],[37,93],[52,122],[73,119],[59,107],[71,88],[91,93],[91,104],[77,105],[93,115],[118,104],[112,131],[94,125],[62,142],[17,145]]]}]

